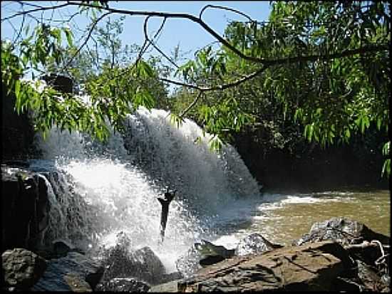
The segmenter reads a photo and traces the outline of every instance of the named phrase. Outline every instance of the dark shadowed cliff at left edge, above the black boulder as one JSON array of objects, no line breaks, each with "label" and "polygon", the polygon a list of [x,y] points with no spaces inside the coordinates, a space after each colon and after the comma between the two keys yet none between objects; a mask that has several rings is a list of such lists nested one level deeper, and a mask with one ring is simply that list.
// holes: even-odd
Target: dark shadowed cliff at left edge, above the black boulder
[{"label": "dark shadowed cliff at left edge, above the black boulder", "polygon": [[32,122],[27,113],[14,110],[15,95],[6,95],[3,85],[1,89],[1,162],[27,159],[34,152]]}]

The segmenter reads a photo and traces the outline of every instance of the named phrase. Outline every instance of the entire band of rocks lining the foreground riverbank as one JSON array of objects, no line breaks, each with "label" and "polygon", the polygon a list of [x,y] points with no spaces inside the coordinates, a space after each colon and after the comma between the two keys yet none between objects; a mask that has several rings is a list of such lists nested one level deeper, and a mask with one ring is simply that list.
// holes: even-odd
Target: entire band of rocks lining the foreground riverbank
[{"label": "entire band of rocks lining the foreground riverbank", "polygon": [[177,261],[175,273],[166,273],[148,247],[129,251],[129,241],[120,234],[117,245],[99,259],[66,243],[53,246],[46,255],[52,258],[24,248],[6,250],[2,290],[390,291],[390,237],[344,218],[314,224],[291,246],[271,243],[257,233],[240,241],[235,250],[202,241]]}]

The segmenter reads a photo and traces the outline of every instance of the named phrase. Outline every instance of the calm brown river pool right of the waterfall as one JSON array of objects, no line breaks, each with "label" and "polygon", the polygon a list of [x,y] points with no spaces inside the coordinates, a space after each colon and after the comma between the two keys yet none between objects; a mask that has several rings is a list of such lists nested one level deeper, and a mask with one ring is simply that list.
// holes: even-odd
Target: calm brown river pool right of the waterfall
[{"label": "calm brown river pool right of the waterfall", "polygon": [[[344,216],[366,224],[378,233],[391,236],[391,193],[376,191],[325,191],[309,194],[264,194],[262,200],[239,203],[227,214],[251,216],[237,220],[230,231],[215,243],[234,248],[250,233],[260,233],[269,241],[289,245],[308,233],[312,224],[332,217]],[[242,211],[242,212],[241,212]],[[228,225],[229,226],[229,225]]]}]

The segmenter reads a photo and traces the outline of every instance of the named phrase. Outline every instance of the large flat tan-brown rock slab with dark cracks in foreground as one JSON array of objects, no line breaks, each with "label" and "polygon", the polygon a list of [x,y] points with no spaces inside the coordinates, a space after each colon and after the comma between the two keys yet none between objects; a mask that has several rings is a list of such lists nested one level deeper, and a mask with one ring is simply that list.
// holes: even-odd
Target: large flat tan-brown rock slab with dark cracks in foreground
[{"label": "large flat tan-brown rock slab with dark cracks in foreground", "polygon": [[[336,278],[347,271],[331,241],[277,248],[261,255],[234,256],[180,280],[180,292],[209,291],[319,291],[336,290]],[[349,258],[346,256],[346,258]]]}]

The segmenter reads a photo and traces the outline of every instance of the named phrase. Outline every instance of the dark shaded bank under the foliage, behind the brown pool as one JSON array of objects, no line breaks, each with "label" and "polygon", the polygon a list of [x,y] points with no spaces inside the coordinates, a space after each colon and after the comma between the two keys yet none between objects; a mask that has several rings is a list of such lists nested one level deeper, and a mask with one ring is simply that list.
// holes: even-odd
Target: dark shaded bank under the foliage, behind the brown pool
[{"label": "dark shaded bank under the foliage, behind the brown pool", "polygon": [[237,136],[234,147],[252,175],[267,191],[325,191],[349,187],[388,189],[388,179],[381,178],[381,147],[387,137],[372,139],[376,148],[368,148],[363,136],[348,145],[325,149],[315,145],[299,146],[294,152],[269,149],[250,136]]}]

